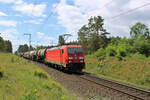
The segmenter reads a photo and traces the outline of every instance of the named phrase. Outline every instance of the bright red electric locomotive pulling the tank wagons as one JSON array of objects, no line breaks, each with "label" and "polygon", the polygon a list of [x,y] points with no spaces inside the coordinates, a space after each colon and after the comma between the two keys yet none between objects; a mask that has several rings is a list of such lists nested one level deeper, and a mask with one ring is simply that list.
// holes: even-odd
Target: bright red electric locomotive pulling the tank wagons
[{"label": "bright red electric locomotive pulling the tank wagons", "polygon": [[64,45],[46,49],[44,61],[72,71],[85,68],[82,46]]}]

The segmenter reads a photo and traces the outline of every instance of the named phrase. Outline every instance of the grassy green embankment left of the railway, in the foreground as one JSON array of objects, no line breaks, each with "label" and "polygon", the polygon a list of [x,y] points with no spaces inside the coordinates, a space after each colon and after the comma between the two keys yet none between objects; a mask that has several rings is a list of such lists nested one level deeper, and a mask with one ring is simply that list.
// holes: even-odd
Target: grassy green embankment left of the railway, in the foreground
[{"label": "grassy green embankment left of the railway, in the foreground", "polygon": [[76,100],[32,63],[0,53],[0,100]]}]

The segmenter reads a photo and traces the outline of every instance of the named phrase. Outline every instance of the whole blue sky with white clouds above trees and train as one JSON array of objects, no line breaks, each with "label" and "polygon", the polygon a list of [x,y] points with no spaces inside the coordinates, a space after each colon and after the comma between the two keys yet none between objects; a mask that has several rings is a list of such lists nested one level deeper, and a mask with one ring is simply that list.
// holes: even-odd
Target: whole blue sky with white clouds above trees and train
[{"label": "whole blue sky with white clouds above trees and train", "polygon": [[[138,8],[138,9],[137,9]],[[136,9],[136,10],[135,10]],[[150,28],[149,0],[0,0],[0,36],[19,45],[55,45],[58,36],[78,30],[91,16],[102,16],[110,36],[129,37],[130,27],[141,22]]]}]

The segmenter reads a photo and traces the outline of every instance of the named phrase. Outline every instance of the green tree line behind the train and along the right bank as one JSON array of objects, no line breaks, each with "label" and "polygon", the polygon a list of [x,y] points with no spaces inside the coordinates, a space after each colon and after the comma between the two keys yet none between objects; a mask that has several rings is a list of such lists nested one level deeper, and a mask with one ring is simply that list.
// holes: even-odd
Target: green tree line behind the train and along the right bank
[{"label": "green tree line behind the train and along the right bank", "polygon": [[[82,45],[84,53],[93,54],[96,57],[116,56],[125,57],[139,53],[144,56],[150,55],[150,32],[145,24],[135,23],[130,28],[130,37],[110,37],[110,33],[104,28],[104,19],[101,16],[94,16],[88,19],[88,23],[78,30],[78,39],[73,42],[66,42],[62,35],[59,36],[58,44],[61,45]],[[30,50],[51,48],[54,46],[38,46]],[[28,46],[20,45],[18,52],[28,51]]]}]

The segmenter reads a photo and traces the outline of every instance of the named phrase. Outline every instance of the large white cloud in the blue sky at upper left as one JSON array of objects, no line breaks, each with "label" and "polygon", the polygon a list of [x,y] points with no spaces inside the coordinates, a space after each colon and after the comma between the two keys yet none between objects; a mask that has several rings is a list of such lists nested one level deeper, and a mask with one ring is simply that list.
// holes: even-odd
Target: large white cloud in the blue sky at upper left
[{"label": "large white cloud in the blue sky at upper left", "polygon": [[27,4],[23,3],[20,5],[13,6],[13,9],[19,11],[28,16],[36,16],[36,17],[45,17],[44,11],[46,9],[46,4]]}]

